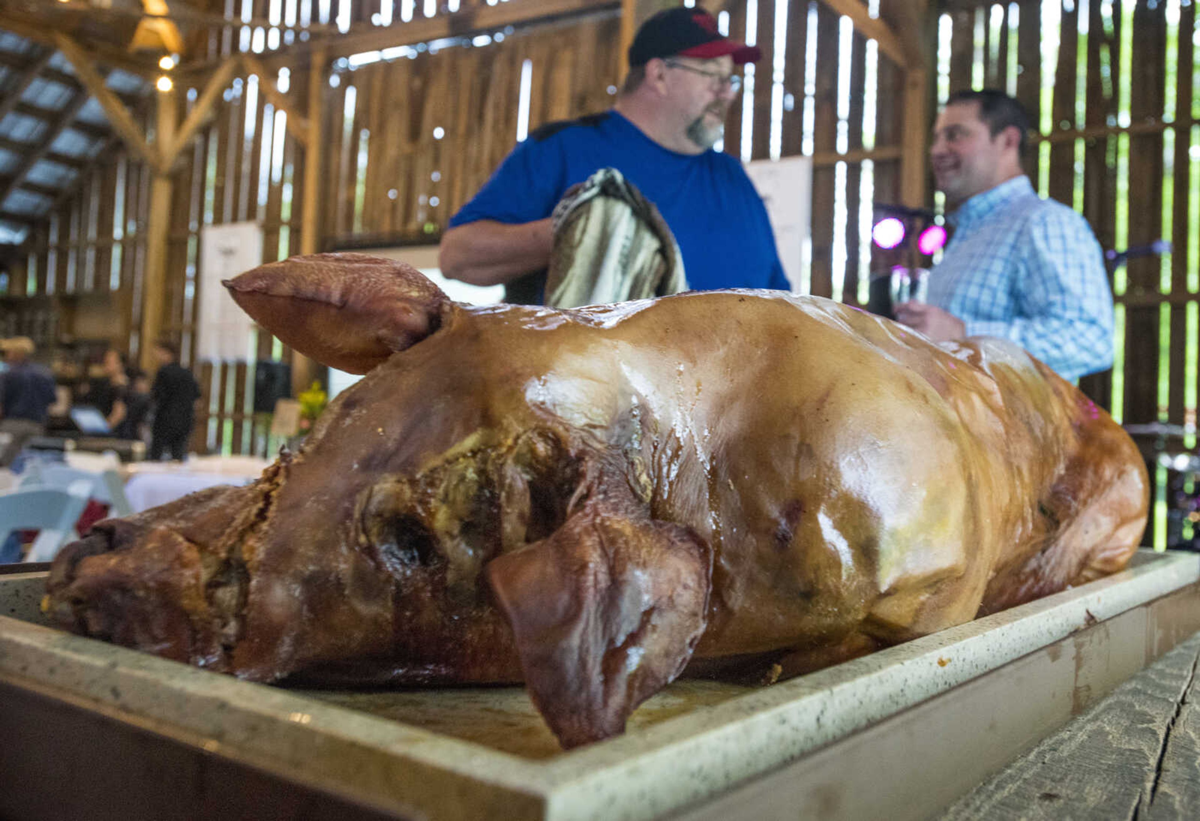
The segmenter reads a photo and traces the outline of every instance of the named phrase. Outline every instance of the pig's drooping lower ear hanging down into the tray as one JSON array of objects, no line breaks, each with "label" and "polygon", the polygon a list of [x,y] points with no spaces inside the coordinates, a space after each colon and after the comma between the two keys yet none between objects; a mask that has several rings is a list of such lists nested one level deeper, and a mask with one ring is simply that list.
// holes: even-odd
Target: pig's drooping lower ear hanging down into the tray
[{"label": "pig's drooping lower ear hanging down into the tray", "polygon": [[710,553],[690,529],[584,510],[493,559],[526,687],[564,748],[620,733],[704,631]]}]

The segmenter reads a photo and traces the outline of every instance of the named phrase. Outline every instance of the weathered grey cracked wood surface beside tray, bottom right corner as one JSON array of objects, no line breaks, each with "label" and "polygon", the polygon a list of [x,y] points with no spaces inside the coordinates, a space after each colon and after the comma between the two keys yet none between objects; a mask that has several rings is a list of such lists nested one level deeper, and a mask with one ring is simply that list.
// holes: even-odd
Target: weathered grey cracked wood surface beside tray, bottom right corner
[{"label": "weathered grey cracked wood surface beside tray, bottom right corner", "polygon": [[1200,635],[958,801],[941,821],[1192,817],[1200,802],[1198,663]]}]

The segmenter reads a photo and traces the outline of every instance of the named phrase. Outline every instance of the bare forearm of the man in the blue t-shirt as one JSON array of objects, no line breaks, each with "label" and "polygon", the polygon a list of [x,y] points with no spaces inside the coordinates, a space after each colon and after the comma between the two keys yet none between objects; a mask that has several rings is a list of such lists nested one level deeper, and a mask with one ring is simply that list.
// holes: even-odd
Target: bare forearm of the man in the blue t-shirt
[{"label": "bare forearm of the man in the blue t-shirt", "polygon": [[479,220],[442,235],[442,274],[476,286],[502,284],[550,264],[551,218],[520,224]]}]

